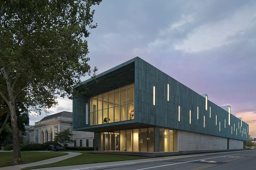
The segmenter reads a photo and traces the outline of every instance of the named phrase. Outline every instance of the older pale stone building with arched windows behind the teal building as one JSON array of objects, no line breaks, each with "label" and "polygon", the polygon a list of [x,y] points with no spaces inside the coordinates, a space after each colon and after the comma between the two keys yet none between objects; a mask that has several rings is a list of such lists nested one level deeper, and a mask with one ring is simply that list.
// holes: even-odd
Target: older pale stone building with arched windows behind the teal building
[{"label": "older pale stone building with arched windows behind the teal building", "polygon": [[74,143],[68,146],[94,147],[94,133],[72,130],[72,112],[59,112],[49,115],[35,122],[35,126],[29,126],[27,137],[29,143],[45,143],[54,141],[56,132],[62,132],[69,128],[73,134]]}]

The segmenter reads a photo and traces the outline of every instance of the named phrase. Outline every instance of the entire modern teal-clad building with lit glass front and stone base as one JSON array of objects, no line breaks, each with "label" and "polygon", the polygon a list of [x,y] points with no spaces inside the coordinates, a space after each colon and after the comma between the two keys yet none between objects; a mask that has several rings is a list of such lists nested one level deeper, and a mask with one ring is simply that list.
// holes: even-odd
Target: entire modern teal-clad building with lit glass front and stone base
[{"label": "entire modern teal-clad building with lit glass front and stone base", "polygon": [[139,57],[76,90],[83,93],[73,99],[73,129],[94,132],[97,152],[234,150],[249,138],[249,125],[230,106],[217,106]]}]

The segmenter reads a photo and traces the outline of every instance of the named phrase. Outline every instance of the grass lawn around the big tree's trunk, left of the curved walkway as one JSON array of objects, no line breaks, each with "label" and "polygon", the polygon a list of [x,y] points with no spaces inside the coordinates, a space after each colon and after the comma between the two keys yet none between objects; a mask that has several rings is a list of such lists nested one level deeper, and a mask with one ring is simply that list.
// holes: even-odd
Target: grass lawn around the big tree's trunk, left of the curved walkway
[{"label": "grass lawn around the big tree's trunk, left of the curved walkway", "polygon": [[[67,153],[21,151],[22,163],[32,163],[63,155],[67,155]],[[0,160],[0,167],[11,166],[11,162],[13,160],[13,152],[0,152]]]}]

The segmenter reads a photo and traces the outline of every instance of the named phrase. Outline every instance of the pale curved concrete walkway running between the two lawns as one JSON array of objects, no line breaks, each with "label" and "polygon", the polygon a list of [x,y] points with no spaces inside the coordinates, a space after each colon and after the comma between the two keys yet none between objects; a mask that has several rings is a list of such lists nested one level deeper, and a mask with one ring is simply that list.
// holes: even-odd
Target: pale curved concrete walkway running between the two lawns
[{"label": "pale curved concrete walkway running between the two lawns", "polygon": [[[41,151],[41,152],[43,152],[43,151]],[[68,153],[68,155],[54,157],[51,159],[45,159],[43,161],[38,161],[38,162],[33,162],[33,163],[28,163],[28,164],[6,166],[6,167],[0,168],[0,170],[20,170],[21,168],[26,168],[29,166],[37,166],[37,165],[44,165],[44,164],[48,164],[48,163],[54,163],[54,162],[62,161],[64,159],[68,159],[70,157],[81,155],[81,153],[77,153],[77,152],[65,152],[65,153]]]}]

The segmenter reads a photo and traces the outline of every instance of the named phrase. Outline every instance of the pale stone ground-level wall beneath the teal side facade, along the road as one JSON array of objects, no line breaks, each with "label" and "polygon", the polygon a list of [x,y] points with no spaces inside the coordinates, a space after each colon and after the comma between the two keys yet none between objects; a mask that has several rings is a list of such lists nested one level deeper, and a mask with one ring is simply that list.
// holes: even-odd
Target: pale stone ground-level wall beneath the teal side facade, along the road
[{"label": "pale stone ground-level wall beneath the teal side facade, along the road", "polygon": [[[243,143],[243,141],[241,142]],[[226,150],[227,148],[227,138],[178,130],[178,151]]]}]

